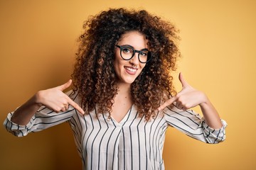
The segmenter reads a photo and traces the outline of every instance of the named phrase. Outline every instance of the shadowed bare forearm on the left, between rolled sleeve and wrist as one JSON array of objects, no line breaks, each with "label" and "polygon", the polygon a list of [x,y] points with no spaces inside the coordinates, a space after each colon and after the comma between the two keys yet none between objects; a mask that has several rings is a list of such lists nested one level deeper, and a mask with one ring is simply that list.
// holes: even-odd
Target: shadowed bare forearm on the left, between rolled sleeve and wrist
[{"label": "shadowed bare forearm on the left, between rolled sleeve and wrist", "polygon": [[40,107],[41,106],[36,103],[36,95],[34,95],[26,101],[26,103],[16,109],[11,117],[11,121],[18,125],[27,125]]}]

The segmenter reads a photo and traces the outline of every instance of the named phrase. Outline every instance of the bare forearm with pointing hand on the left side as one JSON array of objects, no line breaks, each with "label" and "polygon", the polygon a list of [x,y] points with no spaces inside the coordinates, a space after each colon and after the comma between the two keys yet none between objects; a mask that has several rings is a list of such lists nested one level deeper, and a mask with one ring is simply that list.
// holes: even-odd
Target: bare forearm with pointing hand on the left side
[{"label": "bare forearm with pointing hand on the left side", "polygon": [[71,83],[72,81],[69,80],[67,83],[52,89],[38,91],[26,103],[16,109],[11,117],[11,121],[18,125],[27,125],[41,106],[46,106],[50,110],[58,113],[68,110],[68,105],[70,104],[83,114],[84,111],[82,111],[82,108],[63,93],[63,90],[67,89]]}]

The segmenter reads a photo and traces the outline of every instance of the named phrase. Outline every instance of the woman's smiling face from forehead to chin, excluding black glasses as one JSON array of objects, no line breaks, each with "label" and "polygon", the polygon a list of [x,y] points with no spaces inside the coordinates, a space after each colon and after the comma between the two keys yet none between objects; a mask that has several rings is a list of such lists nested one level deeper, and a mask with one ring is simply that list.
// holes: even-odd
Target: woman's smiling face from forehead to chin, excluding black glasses
[{"label": "woman's smiling face from forehead to chin, excluding black glasses", "polygon": [[[147,48],[146,42],[145,35],[137,31],[132,31],[122,35],[117,45],[130,45],[134,47],[134,50],[143,50]],[[119,83],[132,84],[142,72],[146,63],[139,62],[138,52],[135,52],[131,60],[122,59],[119,47],[115,47],[114,55],[114,71],[119,78]]]}]

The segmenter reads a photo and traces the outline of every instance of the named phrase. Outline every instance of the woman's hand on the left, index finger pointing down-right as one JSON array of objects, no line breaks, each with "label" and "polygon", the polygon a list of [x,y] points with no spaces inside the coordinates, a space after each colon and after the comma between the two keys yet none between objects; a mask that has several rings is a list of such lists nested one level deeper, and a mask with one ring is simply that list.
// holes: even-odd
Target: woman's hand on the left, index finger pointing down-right
[{"label": "woman's hand on the left, index finger pointing down-right", "polygon": [[36,103],[38,103],[39,106],[46,106],[56,113],[68,110],[68,105],[70,104],[83,115],[85,112],[82,110],[82,108],[80,108],[77,103],[75,103],[70,97],[63,93],[63,91],[67,89],[71,84],[72,80],[70,79],[68,82],[60,86],[56,86],[52,89],[38,91],[36,94]]}]

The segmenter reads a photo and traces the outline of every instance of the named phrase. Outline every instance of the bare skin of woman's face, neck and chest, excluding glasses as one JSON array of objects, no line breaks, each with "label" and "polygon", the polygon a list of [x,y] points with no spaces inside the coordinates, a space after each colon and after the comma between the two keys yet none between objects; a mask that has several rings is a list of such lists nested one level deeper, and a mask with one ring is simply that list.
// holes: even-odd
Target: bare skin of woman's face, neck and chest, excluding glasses
[{"label": "bare skin of woman's face, neck and chest, excluding glasses", "polygon": [[[137,31],[132,31],[122,35],[117,45],[131,45],[135,50],[142,50],[147,48],[146,42],[144,35]],[[118,92],[114,97],[111,116],[119,123],[127,114],[129,108],[132,107],[131,84],[139,76],[146,64],[139,62],[138,53],[135,53],[131,60],[123,60],[120,56],[120,49],[115,48],[114,55],[114,71],[118,77]]]}]

